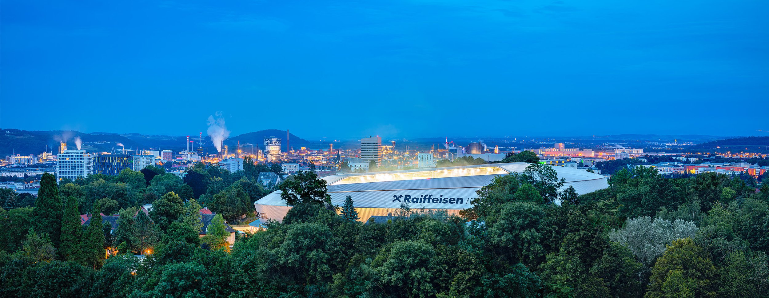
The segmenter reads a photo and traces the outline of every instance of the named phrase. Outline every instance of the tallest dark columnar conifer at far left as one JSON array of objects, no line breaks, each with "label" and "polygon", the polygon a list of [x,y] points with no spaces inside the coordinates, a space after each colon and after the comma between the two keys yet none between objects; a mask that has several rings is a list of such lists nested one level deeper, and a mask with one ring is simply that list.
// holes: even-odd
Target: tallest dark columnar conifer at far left
[{"label": "tallest dark columnar conifer at far left", "polygon": [[40,179],[40,190],[32,210],[32,225],[35,232],[45,234],[54,247],[61,243],[62,199],[58,197],[56,177],[45,173]]}]

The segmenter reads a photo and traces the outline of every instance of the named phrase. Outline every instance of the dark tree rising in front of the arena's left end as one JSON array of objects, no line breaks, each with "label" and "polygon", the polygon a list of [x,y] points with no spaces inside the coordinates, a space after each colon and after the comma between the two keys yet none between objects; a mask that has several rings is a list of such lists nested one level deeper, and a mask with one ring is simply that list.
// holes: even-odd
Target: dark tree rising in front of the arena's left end
[{"label": "dark tree rising in front of the arena's left end", "polygon": [[331,204],[326,180],[318,179],[318,175],[311,171],[298,171],[278,188],[281,190],[281,198],[288,206],[301,203]]}]

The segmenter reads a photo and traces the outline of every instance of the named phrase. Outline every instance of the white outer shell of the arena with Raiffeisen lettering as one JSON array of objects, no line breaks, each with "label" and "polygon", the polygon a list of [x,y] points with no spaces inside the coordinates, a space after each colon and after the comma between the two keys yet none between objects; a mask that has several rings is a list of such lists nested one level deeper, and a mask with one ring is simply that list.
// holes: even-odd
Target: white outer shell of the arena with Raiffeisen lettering
[{"label": "white outer shell of the arena with Raiffeisen lettering", "polygon": [[[414,169],[406,171],[388,171],[377,173],[339,174],[324,177],[328,181],[328,194],[331,195],[331,204],[341,206],[345,203],[345,197],[351,196],[355,201],[355,210],[361,221],[368,220],[372,215],[388,215],[394,213],[401,203],[408,203],[411,209],[424,208],[431,210],[446,210],[448,214],[458,214],[459,210],[471,207],[470,202],[478,195],[476,191],[491,183],[496,176],[505,174],[484,174],[484,171],[471,171],[481,167],[501,167],[508,173],[520,173],[529,164],[480,164],[466,167],[446,167],[431,169]],[[548,166],[551,167],[551,166]],[[569,167],[553,167],[558,173],[558,178],[564,178],[564,187],[573,186],[578,194],[587,194],[595,190],[608,187],[607,178]],[[424,178],[430,171],[464,171],[468,176]],[[398,174],[402,177],[421,177],[414,180],[397,180]],[[465,173],[465,172],[463,172]],[[371,176],[371,182],[354,184],[335,184],[346,177]],[[436,175],[440,176],[440,175]],[[396,178],[393,178],[396,177]],[[388,180],[394,179],[394,180]],[[411,179],[411,178],[409,178]],[[348,179],[355,180],[355,179]],[[363,180],[363,179],[361,179]],[[261,219],[283,220],[291,207],[286,206],[281,199],[280,190],[268,194],[254,202],[254,207]]]}]

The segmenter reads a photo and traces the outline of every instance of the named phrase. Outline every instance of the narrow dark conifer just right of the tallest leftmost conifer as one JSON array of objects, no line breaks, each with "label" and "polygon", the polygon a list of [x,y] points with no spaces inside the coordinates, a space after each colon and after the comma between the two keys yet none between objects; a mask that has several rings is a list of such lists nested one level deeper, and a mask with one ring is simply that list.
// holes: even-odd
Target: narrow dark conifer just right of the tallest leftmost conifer
[{"label": "narrow dark conifer just right of the tallest leftmost conifer", "polygon": [[64,260],[83,263],[81,246],[83,227],[80,224],[79,214],[78,198],[67,197],[64,217],[62,217],[62,245],[58,251]]}]

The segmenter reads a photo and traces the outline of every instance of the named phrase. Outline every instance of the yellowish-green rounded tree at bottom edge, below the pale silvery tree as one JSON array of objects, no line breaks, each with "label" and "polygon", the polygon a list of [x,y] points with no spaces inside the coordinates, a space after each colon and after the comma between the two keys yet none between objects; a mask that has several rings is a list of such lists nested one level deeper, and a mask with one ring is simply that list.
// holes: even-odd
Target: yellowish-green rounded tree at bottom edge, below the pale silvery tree
[{"label": "yellowish-green rounded tree at bottom edge, below the pale silvery tree", "polygon": [[715,296],[716,273],[707,250],[691,238],[674,240],[651,269],[645,297]]}]

